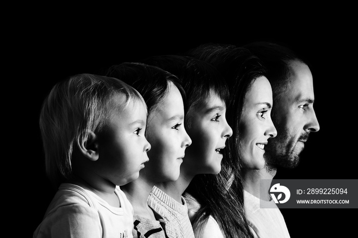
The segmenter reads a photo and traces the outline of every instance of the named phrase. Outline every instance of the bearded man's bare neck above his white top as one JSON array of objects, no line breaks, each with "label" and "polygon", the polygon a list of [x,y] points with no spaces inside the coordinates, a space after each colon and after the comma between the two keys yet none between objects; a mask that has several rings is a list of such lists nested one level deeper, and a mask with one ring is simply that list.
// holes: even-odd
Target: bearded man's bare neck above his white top
[{"label": "bearded man's bare neck above his white top", "polygon": [[[270,201],[271,197],[268,191],[271,186],[271,181],[276,175],[276,172],[277,169],[269,168],[266,165],[261,170],[243,169],[243,189],[257,198]],[[261,179],[270,180],[270,182],[261,183],[261,186],[263,187],[260,188]],[[260,190],[267,191],[267,193],[264,193],[260,196]]]}]

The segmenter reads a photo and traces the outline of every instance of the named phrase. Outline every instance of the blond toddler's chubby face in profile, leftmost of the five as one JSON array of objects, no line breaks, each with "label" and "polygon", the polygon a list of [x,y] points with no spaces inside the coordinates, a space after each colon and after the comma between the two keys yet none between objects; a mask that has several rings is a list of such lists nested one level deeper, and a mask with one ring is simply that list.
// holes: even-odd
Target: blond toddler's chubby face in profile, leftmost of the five
[{"label": "blond toddler's chubby face in profile, leftmost of the five", "polygon": [[[123,105],[123,96],[115,96],[114,104]],[[142,102],[132,100],[124,110],[113,109],[103,132],[99,133],[97,173],[116,185],[127,184],[139,177],[147,162],[150,144],[144,136],[147,110]]]}]

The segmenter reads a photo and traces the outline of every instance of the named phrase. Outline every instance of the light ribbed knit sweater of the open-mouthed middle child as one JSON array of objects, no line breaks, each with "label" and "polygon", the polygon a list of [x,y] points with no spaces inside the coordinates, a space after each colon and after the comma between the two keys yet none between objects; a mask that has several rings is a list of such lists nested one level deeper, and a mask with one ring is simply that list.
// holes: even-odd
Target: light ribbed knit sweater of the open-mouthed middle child
[{"label": "light ribbed knit sweater of the open-mouthed middle child", "polygon": [[194,238],[184,197],[182,202],[183,204],[178,203],[156,186],[148,197],[148,205],[163,217],[166,224],[165,231],[169,238]]}]

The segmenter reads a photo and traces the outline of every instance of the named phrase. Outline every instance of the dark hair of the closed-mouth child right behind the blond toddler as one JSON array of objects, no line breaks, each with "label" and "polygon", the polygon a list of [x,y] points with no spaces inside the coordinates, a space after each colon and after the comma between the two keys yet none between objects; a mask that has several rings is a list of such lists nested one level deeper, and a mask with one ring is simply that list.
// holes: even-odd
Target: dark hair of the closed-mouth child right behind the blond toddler
[{"label": "dark hair of the closed-mouth child right behind the blond toddler", "polygon": [[184,102],[186,99],[185,91],[178,78],[153,65],[125,62],[110,66],[106,76],[120,79],[137,89],[147,104],[148,117],[167,96],[169,83],[173,83],[178,88]]}]

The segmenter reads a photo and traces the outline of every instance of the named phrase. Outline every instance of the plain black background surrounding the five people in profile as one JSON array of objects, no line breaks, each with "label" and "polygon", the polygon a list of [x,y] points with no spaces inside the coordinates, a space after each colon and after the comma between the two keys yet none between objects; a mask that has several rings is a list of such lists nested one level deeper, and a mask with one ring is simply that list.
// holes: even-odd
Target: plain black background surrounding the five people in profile
[{"label": "plain black background surrounding the five people in profile", "polygon": [[[51,14],[47,15],[49,17]],[[184,14],[185,15],[185,14]],[[238,46],[255,40],[286,45],[311,64],[314,77],[315,110],[320,131],[312,133],[294,170],[279,170],[275,178],[285,179],[356,179],[356,24],[335,14],[300,13],[295,22],[285,17],[171,22],[170,14],[158,19],[147,17],[97,18],[76,22],[36,18],[11,28],[9,43],[4,45],[6,72],[4,86],[9,90],[6,102],[6,138],[12,153],[5,182],[11,199],[19,209],[9,214],[10,224],[25,224],[13,229],[31,236],[41,222],[54,195],[44,174],[44,155],[38,127],[39,111],[52,86],[64,77],[101,74],[111,64],[133,62],[151,55],[183,53],[202,43],[230,43]],[[304,17],[302,17],[304,16]],[[63,16],[64,17],[64,16]],[[68,17],[68,16],[67,16]],[[91,20],[88,20],[91,18]],[[297,18],[297,16],[293,17]],[[253,21],[253,19],[255,21]],[[169,24],[169,25],[168,25]],[[8,169],[4,169],[4,174]],[[18,182],[20,181],[20,182]],[[281,209],[291,237],[338,237],[353,230],[355,209]],[[20,221],[20,222],[19,222]]]}]

